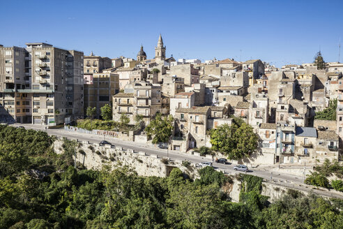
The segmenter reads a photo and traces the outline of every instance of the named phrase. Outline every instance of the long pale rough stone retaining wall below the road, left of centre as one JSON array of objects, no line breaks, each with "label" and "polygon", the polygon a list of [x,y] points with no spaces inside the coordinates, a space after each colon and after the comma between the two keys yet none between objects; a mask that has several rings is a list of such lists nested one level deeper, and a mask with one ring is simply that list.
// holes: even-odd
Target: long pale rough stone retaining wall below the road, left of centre
[{"label": "long pale rough stone retaining wall below the road, left of centre", "polygon": [[[54,152],[63,153],[63,140],[54,142]],[[190,163],[190,166],[185,168],[182,161],[170,161],[169,158],[160,158],[156,154],[148,155],[145,152],[135,152],[133,149],[125,150],[122,147],[98,143],[79,142],[76,161],[78,165],[84,165],[85,168],[92,170],[101,170],[104,165],[109,165],[112,169],[118,165],[128,165],[144,177],[167,177],[176,167],[192,178],[198,176],[195,163]]]}]

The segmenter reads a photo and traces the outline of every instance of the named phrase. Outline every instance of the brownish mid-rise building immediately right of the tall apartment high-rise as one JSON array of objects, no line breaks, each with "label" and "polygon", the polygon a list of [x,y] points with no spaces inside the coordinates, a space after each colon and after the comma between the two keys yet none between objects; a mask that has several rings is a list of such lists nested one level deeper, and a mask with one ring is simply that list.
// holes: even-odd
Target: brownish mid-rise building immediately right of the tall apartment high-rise
[{"label": "brownish mid-rise building immediately right of the tall apartment high-rise", "polygon": [[96,117],[99,118],[105,104],[112,103],[112,96],[119,93],[119,75],[105,72],[93,73],[93,83],[84,84],[84,114],[88,107],[96,108]]}]

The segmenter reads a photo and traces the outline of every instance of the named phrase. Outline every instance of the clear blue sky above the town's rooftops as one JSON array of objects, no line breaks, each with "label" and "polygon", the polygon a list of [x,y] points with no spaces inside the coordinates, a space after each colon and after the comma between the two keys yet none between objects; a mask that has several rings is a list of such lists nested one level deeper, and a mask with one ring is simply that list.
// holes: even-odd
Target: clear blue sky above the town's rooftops
[{"label": "clear blue sky above the town's rooftops", "polygon": [[[51,43],[105,57],[338,61],[343,1],[1,1],[0,44]],[[343,62],[343,48],[341,55]]]}]

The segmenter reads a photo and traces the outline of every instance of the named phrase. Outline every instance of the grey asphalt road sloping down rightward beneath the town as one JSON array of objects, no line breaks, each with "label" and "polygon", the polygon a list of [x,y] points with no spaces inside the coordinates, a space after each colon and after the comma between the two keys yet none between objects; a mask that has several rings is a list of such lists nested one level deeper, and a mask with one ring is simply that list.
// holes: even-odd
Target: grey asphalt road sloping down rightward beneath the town
[{"label": "grey asphalt road sloping down rightward beneath the town", "polygon": [[[180,161],[191,161],[192,163],[201,163],[204,161],[211,161],[211,159],[195,156],[192,154],[185,154],[174,150],[167,149],[159,149],[158,147],[154,147],[153,145],[144,145],[139,144],[137,142],[129,142],[124,140],[119,140],[116,138],[104,137],[100,135],[93,135],[87,133],[78,133],[72,131],[65,131],[63,128],[57,129],[45,129],[45,126],[40,125],[32,125],[32,124],[13,124],[12,126],[24,126],[25,128],[31,128],[37,131],[46,131],[49,135],[56,135],[59,137],[65,137],[68,139],[80,140],[80,141],[89,141],[91,143],[98,143],[101,140],[107,140],[107,142],[112,143],[112,145],[123,147],[123,149],[133,149],[135,152],[146,152],[146,154],[156,154],[160,158],[169,157],[172,161],[180,160]],[[236,174],[241,173],[239,171],[234,170],[234,165],[231,164],[221,164],[221,163],[213,163],[214,168],[219,168],[220,170],[224,170],[224,172],[229,174]],[[303,177],[298,177],[294,175],[282,174],[270,171],[266,171],[263,168],[250,168],[248,174],[255,175],[257,177],[262,177],[269,182],[275,182],[281,186],[292,186],[293,189],[298,189],[300,191],[309,191],[312,186],[306,186],[303,184]],[[343,198],[343,193],[339,193],[336,191],[326,191],[326,190],[313,190],[314,193],[319,195],[324,195],[327,197],[335,197],[335,198]]]}]

